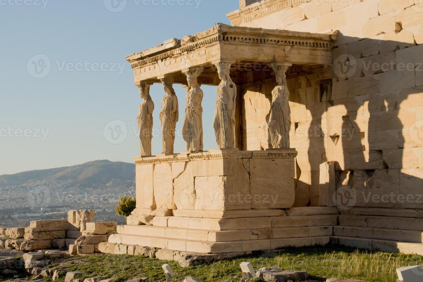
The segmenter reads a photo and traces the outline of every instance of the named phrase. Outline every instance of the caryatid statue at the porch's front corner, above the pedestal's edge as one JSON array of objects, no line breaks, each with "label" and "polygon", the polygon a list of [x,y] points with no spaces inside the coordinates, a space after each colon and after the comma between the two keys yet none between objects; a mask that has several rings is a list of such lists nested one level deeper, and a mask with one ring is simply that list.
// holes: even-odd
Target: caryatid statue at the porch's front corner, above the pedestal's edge
[{"label": "caryatid statue at the porch's front corner, above the pedestal's edge", "polygon": [[231,63],[216,63],[222,79],[216,89],[216,111],[213,126],[219,148],[235,148],[235,100],[236,85],[229,76]]}]

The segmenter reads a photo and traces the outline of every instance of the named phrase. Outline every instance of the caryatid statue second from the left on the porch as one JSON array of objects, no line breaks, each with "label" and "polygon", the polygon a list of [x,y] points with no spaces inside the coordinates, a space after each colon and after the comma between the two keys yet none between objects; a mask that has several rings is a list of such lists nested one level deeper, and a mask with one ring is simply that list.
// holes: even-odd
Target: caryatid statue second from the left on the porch
[{"label": "caryatid statue second from the left on the porch", "polygon": [[176,123],[179,119],[178,98],[173,90],[173,78],[166,76],[160,81],[165,90],[165,97],[162,100],[162,109],[160,110],[160,121],[162,122],[162,140],[164,154],[173,153],[173,143],[175,142]]}]

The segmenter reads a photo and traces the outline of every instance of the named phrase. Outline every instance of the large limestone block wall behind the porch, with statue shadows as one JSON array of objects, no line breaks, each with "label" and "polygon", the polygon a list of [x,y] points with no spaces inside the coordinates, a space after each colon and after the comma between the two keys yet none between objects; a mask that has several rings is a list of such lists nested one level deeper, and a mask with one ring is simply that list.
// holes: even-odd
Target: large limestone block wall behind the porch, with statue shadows
[{"label": "large limestone block wall behind the porch, with statue shadows", "polygon": [[[312,77],[288,79],[294,129],[291,144],[299,152],[295,206],[318,205],[319,164],[335,161],[338,191],[343,186],[354,187],[355,207],[421,208],[420,1],[292,0],[278,1],[283,4],[277,8],[273,2],[277,1],[253,3],[228,17],[234,25],[248,27],[311,33],[339,30],[329,97],[316,95],[319,91]],[[258,120],[265,117],[271,90],[267,82],[247,85],[245,111],[260,107]],[[253,117],[246,119],[244,144],[265,148],[266,141],[254,140],[258,122]],[[314,133],[299,137],[303,130]]]}]

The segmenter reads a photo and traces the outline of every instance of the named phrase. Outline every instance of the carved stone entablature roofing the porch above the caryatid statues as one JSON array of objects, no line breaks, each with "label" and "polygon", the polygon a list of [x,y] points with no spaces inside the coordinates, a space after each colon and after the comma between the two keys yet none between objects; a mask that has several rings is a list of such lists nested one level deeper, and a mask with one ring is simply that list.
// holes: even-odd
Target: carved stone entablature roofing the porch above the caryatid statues
[{"label": "carved stone entablature roofing the porch above the caryatid statues", "polygon": [[[209,30],[181,40],[174,39],[126,59],[134,69],[135,84],[140,81],[160,82],[172,74],[175,83],[184,83],[183,71],[203,67],[200,83],[217,85],[213,79],[216,62],[228,62],[241,67],[250,63],[289,61],[296,65],[332,64],[333,36],[289,30],[253,27],[231,27],[216,24]],[[237,66],[239,67],[239,66]],[[205,79],[203,79],[204,77]]]}]

